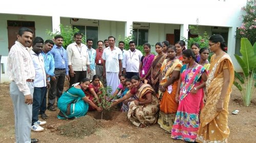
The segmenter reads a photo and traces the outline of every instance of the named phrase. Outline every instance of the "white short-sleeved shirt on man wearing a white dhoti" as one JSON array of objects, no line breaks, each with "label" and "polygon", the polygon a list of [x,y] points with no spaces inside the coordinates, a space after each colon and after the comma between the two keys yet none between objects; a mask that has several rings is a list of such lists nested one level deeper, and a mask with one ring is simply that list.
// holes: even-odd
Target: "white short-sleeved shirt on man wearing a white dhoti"
[{"label": "white short-sleeved shirt on man wearing a white dhoti", "polygon": [[123,59],[122,51],[118,47],[114,47],[113,51],[107,47],[103,50],[102,59],[105,60],[106,72],[119,72],[119,60]]}]

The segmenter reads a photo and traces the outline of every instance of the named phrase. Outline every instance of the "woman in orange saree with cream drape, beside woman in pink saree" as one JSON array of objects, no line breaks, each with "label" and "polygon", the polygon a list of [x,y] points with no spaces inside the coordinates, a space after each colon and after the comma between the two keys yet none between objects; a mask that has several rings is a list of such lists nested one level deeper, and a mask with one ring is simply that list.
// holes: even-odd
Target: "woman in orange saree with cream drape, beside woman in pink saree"
[{"label": "woman in orange saree with cream drape, beside woman in pink saree", "polygon": [[177,85],[180,77],[182,63],[176,58],[176,47],[167,47],[168,59],[164,60],[161,67],[159,88],[160,112],[158,124],[165,132],[170,132],[173,127],[179,103],[175,100]]}]

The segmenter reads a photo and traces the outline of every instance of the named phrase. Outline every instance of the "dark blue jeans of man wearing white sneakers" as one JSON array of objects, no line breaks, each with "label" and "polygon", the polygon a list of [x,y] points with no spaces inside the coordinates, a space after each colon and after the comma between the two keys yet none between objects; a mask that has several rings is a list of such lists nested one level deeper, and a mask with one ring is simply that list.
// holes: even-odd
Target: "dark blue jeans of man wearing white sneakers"
[{"label": "dark blue jeans of man wearing white sneakers", "polygon": [[41,106],[42,100],[44,99],[45,92],[46,92],[46,87],[42,87],[42,88],[34,87],[33,105],[32,105],[32,125],[34,125],[34,123],[38,121],[39,108]]}]

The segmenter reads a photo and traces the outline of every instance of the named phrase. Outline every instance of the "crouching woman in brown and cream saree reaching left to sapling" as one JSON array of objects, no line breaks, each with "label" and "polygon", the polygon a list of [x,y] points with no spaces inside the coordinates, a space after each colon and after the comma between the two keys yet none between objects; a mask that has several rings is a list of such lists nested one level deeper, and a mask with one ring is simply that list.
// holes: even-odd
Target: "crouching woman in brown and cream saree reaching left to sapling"
[{"label": "crouching woman in brown and cream saree reaching left to sapling", "polygon": [[140,78],[135,75],[132,77],[134,88],[120,99],[114,101],[113,105],[120,103],[133,95],[138,100],[132,101],[129,106],[128,119],[137,127],[145,127],[157,122],[157,113],[159,110],[159,102],[156,92],[150,84],[141,83]]}]

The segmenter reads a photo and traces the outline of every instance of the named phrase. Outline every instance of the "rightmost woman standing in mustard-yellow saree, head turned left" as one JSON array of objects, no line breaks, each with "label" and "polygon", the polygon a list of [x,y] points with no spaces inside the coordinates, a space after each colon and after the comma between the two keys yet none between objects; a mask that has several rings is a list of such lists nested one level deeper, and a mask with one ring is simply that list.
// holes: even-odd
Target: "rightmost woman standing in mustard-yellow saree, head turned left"
[{"label": "rightmost woman standing in mustard-yellow saree, head turned left", "polygon": [[234,69],[224,47],[225,41],[221,35],[210,37],[209,48],[215,54],[211,56],[206,81],[207,101],[200,115],[198,142],[227,142],[229,135],[227,116]]}]

